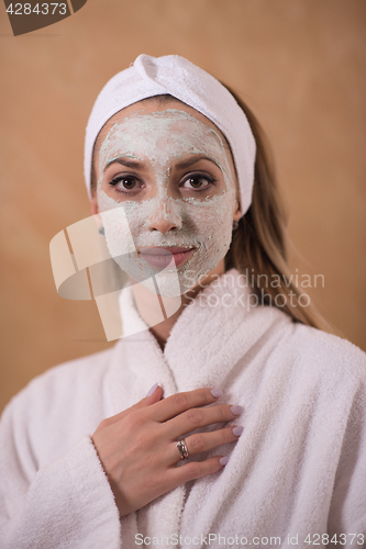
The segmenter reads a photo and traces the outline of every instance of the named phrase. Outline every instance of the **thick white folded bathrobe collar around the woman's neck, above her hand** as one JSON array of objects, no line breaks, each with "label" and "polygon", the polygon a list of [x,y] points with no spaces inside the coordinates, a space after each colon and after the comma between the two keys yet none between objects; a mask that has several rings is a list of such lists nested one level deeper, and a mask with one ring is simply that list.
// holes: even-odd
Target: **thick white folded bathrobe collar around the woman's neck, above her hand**
[{"label": "thick white folded bathrobe collar around the woman's neck, above her hand", "polygon": [[[135,307],[131,287],[123,289],[122,323],[133,334],[114,347],[109,379],[113,413],[121,411],[121,386],[126,383],[141,388],[140,399],[156,382],[165,396],[200,386],[222,388],[235,363],[266,330],[290,322],[277,307],[254,303],[246,278],[229,270],[184,309],[163,351]],[[131,393],[131,405],[136,396]]]}]

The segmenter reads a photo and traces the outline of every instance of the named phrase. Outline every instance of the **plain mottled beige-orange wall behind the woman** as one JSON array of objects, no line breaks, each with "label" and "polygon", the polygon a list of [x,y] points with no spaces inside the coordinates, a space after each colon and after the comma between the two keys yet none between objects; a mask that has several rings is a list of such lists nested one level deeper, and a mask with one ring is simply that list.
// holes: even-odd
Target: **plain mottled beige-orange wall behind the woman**
[{"label": "plain mottled beige-orange wall behind the woman", "polygon": [[90,215],[86,121],[140,53],[179,54],[230,85],[270,137],[299,255],[323,273],[321,313],[366,350],[364,0],[89,0],[13,37],[0,7],[0,410],[34,376],[96,352],[96,304],[55,290],[48,244]]}]

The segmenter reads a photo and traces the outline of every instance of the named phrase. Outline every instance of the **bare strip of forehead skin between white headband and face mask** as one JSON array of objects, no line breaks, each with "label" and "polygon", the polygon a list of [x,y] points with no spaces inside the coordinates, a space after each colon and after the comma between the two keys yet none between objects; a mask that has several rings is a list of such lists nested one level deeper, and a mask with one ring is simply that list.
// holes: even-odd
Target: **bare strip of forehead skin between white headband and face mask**
[{"label": "bare strip of forehead skin between white headband and face mask", "polygon": [[162,101],[159,100],[158,97],[157,98],[154,97],[154,98],[148,98],[147,100],[143,100],[143,101],[138,101],[136,103],[133,103],[132,105],[129,105],[125,109],[122,109],[121,111],[115,113],[112,117],[110,117],[108,120],[108,122],[103,125],[102,130],[100,131],[100,133],[98,135],[98,138],[96,141],[95,153],[97,155],[99,154],[99,149],[100,149],[103,141],[106,139],[109,132],[117,123],[123,122],[125,119],[127,119],[129,116],[131,116],[132,114],[137,113],[137,112],[138,112],[138,114],[144,115],[144,114],[153,114],[156,112],[164,112],[164,111],[171,110],[171,109],[174,109],[176,111],[186,112],[186,113],[190,114],[190,116],[193,116],[196,120],[198,120],[199,122],[204,124],[208,128],[214,130],[214,132],[221,137],[221,141],[222,141],[224,148],[228,152],[230,152],[230,147],[229,147],[229,144],[226,142],[225,136],[218,128],[218,126],[215,126],[215,124],[213,122],[211,122],[211,120],[209,120],[207,116],[204,116],[200,112],[196,111],[196,109],[193,109],[193,108],[187,105],[186,103],[182,103],[181,101],[176,100],[174,98],[171,98],[171,100],[170,99],[166,100],[166,101],[164,101],[164,103],[162,103]]}]

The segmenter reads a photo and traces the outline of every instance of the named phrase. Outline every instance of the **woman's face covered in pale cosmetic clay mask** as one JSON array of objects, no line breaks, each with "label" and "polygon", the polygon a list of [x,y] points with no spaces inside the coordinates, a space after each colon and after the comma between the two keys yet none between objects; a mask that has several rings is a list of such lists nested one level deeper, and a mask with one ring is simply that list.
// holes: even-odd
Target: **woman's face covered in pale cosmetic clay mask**
[{"label": "woman's face covered in pale cosmetic clay mask", "polygon": [[95,155],[109,250],[138,282],[156,276],[162,295],[178,295],[214,270],[239,220],[236,177],[222,133],[195,109],[152,99],[112,116]]}]

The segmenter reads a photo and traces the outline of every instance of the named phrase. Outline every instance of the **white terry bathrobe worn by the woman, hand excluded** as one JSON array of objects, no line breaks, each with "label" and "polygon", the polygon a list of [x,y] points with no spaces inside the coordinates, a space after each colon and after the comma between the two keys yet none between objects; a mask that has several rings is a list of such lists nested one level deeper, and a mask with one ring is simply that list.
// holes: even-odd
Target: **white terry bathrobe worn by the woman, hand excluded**
[{"label": "white terry bathrobe worn by the woman, hand excluded", "polygon": [[[363,547],[366,355],[279,309],[248,311],[242,280],[232,269],[204,289],[164,352],[131,288],[123,290],[124,326],[143,332],[51,369],[10,402],[0,432],[1,548],[243,547],[245,539],[309,548],[326,533],[328,547]],[[221,388],[219,403],[244,407],[235,421],[244,433],[189,458],[230,456],[222,470],[119,519],[90,435],[155,382],[165,396]]]}]

